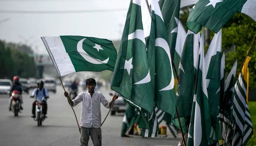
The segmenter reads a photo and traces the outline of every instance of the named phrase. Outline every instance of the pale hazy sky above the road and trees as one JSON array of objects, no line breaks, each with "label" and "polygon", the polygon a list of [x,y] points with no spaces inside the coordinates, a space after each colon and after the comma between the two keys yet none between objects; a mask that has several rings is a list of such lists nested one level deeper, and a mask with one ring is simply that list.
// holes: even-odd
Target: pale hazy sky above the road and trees
[{"label": "pale hazy sky above the road and trees", "polygon": [[0,39],[48,54],[41,37],[120,40],[130,0],[0,0]]}]

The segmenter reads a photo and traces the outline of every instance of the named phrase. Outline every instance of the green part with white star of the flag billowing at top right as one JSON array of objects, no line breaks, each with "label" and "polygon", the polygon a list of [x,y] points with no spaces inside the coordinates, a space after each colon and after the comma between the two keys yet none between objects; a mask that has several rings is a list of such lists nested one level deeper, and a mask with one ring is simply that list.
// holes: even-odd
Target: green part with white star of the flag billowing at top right
[{"label": "green part with white star of the flag billowing at top right", "polygon": [[189,12],[187,27],[195,33],[202,26],[218,33],[245,2],[246,0],[199,0]]}]

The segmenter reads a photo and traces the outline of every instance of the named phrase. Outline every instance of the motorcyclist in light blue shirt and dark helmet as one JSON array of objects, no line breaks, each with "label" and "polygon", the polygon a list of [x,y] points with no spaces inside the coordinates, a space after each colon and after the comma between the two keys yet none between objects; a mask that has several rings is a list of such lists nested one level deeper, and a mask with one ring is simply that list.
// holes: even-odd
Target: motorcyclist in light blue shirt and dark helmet
[{"label": "motorcyclist in light blue shirt and dark helmet", "polygon": [[[37,100],[42,100],[43,97],[44,100],[42,101],[44,103],[44,106],[43,106],[43,113],[44,113],[44,116],[45,118],[47,118],[46,114],[47,114],[47,103],[46,103],[46,99],[49,98],[49,93],[48,93],[48,90],[44,88],[44,81],[43,80],[38,80],[37,81],[37,88],[34,89],[34,91],[32,92],[31,96],[30,97],[36,97]],[[35,103],[36,101],[35,100],[32,104],[32,118],[35,118]]]}]

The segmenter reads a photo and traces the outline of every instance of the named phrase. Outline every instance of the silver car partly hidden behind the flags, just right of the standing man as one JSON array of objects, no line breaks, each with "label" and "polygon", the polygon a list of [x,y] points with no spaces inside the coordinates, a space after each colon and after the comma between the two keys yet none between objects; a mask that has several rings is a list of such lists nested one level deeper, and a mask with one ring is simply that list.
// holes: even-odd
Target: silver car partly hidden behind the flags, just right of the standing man
[{"label": "silver car partly hidden behind the flags, just right of the standing man", "polygon": [[[115,95],[117,92],[114,93]],[[113,93],[109,93],[110,96],[114,95]],[[126,103],[124,102],[124,97],[119,95],[118,99],[115,100],[113,107],[110,110],[110,115],[115,115],[116,112],[118,113],[125,113],[126,110]]]}]

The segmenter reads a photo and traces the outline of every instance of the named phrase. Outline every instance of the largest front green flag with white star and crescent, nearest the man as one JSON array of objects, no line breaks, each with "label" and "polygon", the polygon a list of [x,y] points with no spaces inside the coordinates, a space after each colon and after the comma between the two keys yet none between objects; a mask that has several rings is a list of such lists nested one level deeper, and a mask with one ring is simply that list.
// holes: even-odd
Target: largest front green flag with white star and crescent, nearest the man
[{"label": "largest front green flag with white star and crescent, nearest the man", "polygon": [[154,109],[140,0],[131,0],[127,12],[111,89],[150,113]]}]

